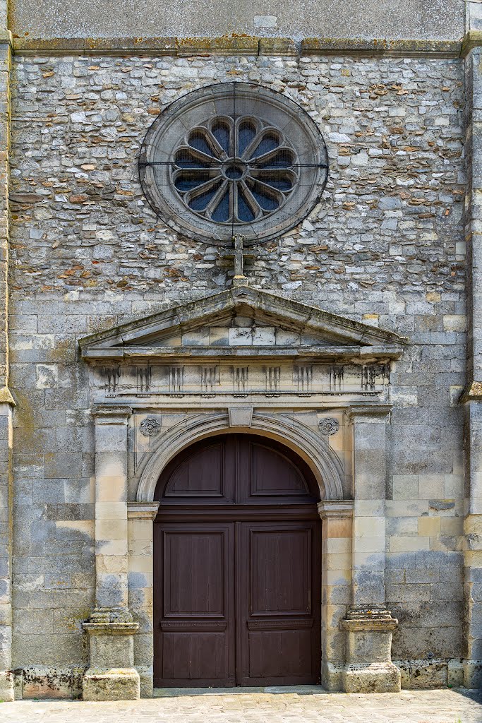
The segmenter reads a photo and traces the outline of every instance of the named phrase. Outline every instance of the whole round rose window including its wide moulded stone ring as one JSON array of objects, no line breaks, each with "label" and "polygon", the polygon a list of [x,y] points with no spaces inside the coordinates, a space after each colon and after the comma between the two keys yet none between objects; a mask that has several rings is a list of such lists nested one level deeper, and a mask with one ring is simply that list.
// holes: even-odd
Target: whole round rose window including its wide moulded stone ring
[{"label": "whole round rose window including its wide moulded stone ring", "polygon": [[179,234],[249,244],[301,223],[328,176],[314,121],[280,93],[220,83],[188,93],[154,121],[139,158],[153,210]]}]

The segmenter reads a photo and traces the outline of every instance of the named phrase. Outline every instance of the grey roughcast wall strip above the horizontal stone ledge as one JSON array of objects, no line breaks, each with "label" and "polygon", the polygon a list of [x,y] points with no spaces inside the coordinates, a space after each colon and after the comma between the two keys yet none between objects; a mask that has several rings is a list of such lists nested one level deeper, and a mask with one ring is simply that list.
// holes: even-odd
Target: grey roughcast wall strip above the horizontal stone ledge
[{"label": "grey roughcast wall strip above the horizontal stone ledge", "polygon": [[[9,27],[17,37],[132,38],[152,35],[324,35],[332,38],[460,38],[464,3],[458,0],[294,0],[291,3],[237,0],[223,5],[212,0],[198,5],[149,0],[138,6],[124,0],[116,6],[100,0],[58,0],[36,3],[17,0]],[[474,6],[475,2],[467,5]]]}]

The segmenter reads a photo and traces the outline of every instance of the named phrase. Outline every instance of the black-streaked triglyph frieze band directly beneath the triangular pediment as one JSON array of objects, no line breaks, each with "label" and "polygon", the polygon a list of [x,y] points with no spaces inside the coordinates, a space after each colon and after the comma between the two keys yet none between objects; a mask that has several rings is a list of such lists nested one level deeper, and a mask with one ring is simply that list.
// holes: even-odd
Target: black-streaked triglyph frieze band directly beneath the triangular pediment
[{"label": "black-streaked triglyph frieze band directly beneath the triangular pediment", "polygon": [[[187,361],[187,359],[186,359]],[[388,364],[305,364],[286,363],[277,359],[258,361],[249,356],[237,363],[223,364],[152,364],[149,367],[120,365],[92,369],[93,401],[118,398],[119,401],[142,406],[149,397],[163,405],[199,402],[210,398],[212,403],[228,403],[233,399],[263,403],[270,406],[290,401],[304,405],[315,403],[346,404],[356,397],[384,401],[387,398],[390,367]],[[147,383],[139,379],[148,380]],[[288,400],[287,400],[288,397]]]}]

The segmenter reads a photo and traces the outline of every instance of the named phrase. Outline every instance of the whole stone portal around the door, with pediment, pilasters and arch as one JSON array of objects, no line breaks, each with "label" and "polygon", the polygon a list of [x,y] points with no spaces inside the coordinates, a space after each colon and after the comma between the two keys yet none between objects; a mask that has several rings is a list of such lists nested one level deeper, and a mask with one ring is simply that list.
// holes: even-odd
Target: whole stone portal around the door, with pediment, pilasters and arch
[{"label": "whole stone portal around the door, with pediment, pilasters and arch", "polygon": [[[374,627],[372,617],[375,608],[384,614],[385,600],[386,372],[390,359],[401,356],[402,340],[236,286],[92,335],[81,347],[92,363],[95,401],[96,609],[85,628],[92,666],[85,695],[98,695],[89,692],[90,682],[98,688],[98,638],[112,638],[117,649],[119,625],[129,651],[129,696],[139,677],[142,696],[152,695],[155,484],[192,442],[231,432],[277,440],[311,469],[326,570],[323,682],[332,690],[362,689],[366,671],[348,656],[347,639],[359,630],[388,634],[395,624],[390,618]],[[370,372],[369,389],[361,369]],[[153,432],[141,427],[147,419]],[[351,607],[354,622],[345,620]],[[382,689],[393,667],[380,657],[374,654],[382,664],[374,685]],[[106,669],[106,687],[114,685],[117,667]],[[390,685],[400,686],[400,674]]]}]

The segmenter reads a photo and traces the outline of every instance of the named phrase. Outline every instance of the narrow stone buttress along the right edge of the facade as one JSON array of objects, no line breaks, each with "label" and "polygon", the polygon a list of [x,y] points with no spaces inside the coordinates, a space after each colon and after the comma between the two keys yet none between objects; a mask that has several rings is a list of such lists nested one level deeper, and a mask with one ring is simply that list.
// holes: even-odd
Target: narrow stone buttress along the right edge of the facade
[{"label": "narrow stone buttress along the right edge of the facade", "polygon": [[[477,40],[465,59],[465,157],[468,191],[468,386],[465,403],[464,685],[482,685],[482,9],[467,6],[467,30]],[[475,40],[474,40],[475,44]]]}]

